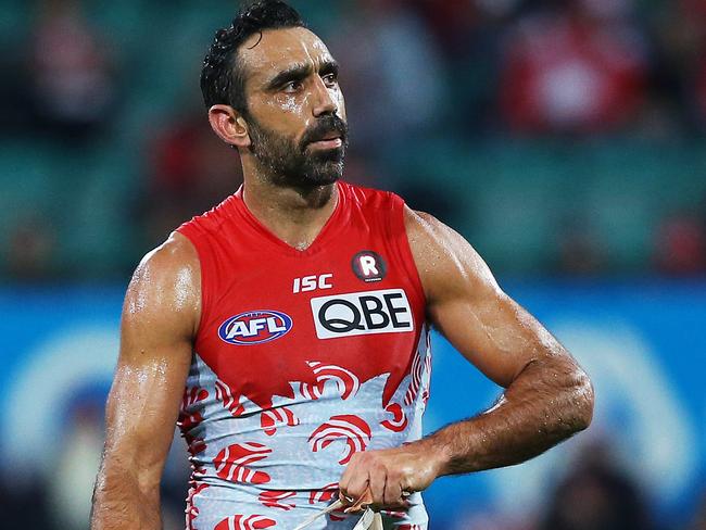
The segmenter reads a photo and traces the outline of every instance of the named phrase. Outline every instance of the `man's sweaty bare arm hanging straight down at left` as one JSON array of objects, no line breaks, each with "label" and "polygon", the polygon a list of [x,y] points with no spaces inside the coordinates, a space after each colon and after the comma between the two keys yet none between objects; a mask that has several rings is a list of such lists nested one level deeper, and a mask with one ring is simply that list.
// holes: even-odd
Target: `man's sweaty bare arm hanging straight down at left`
[{"label": "man's sweaty bare arm hanging straight down at left", "polygon": [[121,353],[105,412],[92,530],[159,530],[160,481],[199,325],[199,260],[174,234],[140,263],[125,296]]}]

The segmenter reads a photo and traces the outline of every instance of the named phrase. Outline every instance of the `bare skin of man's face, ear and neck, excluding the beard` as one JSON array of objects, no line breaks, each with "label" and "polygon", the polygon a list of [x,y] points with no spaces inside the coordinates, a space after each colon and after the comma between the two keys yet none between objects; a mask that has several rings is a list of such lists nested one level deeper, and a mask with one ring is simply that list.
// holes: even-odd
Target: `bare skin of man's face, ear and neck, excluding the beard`
[{"label": "bare skin of man's face, ear and neck, excluding the beard", "polygon": [[[240,48],[248,64],[248,111],[262,124],[299,141],[325,113],[345,119],[345,103],[338,78],[320,72],[333,61],[322,40],[308,29],[294,27],[265,30]],[[299,83],[272,87],[270,81],[288,70],[306,66],[310,75]],[[228,105],[214,105],[211,126],[226,143],[240,151],[243,168],[243,200],[248,210],[282,241],[306,249],[336,209],[336,186],[308,188],[277,186],[276,175],[259,164],[248,149],[248,124]]]}]

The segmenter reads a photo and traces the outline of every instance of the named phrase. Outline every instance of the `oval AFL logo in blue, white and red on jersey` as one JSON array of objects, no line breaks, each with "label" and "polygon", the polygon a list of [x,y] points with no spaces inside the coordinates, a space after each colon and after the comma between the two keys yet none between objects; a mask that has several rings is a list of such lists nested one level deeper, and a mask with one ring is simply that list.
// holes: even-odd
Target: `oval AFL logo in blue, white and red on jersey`
[{"label": "oval AFL logo in blue, white and red on jersey", "polygon": [[228,344],[262,344],[279,339],[292,329],[292,319],[279,311],[249,311],[231,316],[218,328],[218,337]]}]

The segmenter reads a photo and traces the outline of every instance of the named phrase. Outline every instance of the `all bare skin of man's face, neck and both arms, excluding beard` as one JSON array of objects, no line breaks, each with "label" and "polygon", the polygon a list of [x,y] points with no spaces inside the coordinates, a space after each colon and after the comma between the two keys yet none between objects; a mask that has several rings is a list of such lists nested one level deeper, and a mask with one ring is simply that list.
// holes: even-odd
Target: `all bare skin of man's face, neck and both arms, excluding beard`
[{"label": "all bare skin of man's face, neck and both arms, excluding beard", "polygon": [[[313,33],[265,30],[239,53],[247,65],[249,112],[263,126],[301,140],[324,114],[345,118],[337,77],[325,67],[332,58]],[[272,86],[276,76],[294,67],[304,67],[306,76]],[[250,150],[243,116],[231,106],[214,105],[209,119],[216,135],[240,152],[243,198],[251,213],[291,247],[308,247],[336,207],[336,185],[282,185],[282,176],[273,175]],[[512,465],[540,454],[585,428],[593,409],[585,374],[503,293],[461,236],[411,210],[405,224],[428,319],[506,390],[493,408],[476,418],[403,447],[356,453],[341,477],[341,493],[377,508],[404,506],[403,492],[424,490],[439,476]],[[93,530],[161,528],[160,480],[200,313],[198,255],[175,232],[142,260],[127,290],[93,495]]]}]

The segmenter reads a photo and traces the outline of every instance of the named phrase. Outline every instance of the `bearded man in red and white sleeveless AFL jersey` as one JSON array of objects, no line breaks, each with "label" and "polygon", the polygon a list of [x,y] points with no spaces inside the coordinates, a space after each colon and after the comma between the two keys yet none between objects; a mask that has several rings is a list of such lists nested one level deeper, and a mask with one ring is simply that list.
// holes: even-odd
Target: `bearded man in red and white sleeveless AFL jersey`
[{"label": "bearded man in red and white sleeveless AFL jersey", "polygon": [[[369,505],[386,528],[426,529],[419,492],[437,477],[520,463],[589,425],[585,374],[461,236],[339,180],[338,65],[294,10],[245,9],[201,85],[244,185],[133,277],[93,529],[160,528],[177,419],[199,530],[293,529],[339,496],[352,509],[311,528],[353,528]],[[421,439],[429,326],[506,390]]]}]

